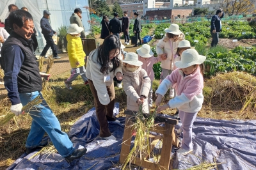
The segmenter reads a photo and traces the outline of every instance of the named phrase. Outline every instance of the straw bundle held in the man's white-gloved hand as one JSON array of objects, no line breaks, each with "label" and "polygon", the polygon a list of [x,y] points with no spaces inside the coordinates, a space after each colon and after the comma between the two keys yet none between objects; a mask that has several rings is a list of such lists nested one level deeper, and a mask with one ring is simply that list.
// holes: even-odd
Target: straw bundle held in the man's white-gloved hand
[{"label": "straw bundle held in the man's white-gloved hand", "polygon": [[[41,103],[42,103],[42,99],[40,98],[40,96],[38,96],[31,102],[28,102],[28,104],[26,104],[24,107],[22,107],[22,111],[29,112],[29,110],[32,109],[35,105],[38,105]],[[4,116],[4,118],[0,120],[0,125],[4,125],[5,123],[9,122],[10,120],[12,120],[14,116],[15,116],[14,113],[6,114],[6,116]]]}]

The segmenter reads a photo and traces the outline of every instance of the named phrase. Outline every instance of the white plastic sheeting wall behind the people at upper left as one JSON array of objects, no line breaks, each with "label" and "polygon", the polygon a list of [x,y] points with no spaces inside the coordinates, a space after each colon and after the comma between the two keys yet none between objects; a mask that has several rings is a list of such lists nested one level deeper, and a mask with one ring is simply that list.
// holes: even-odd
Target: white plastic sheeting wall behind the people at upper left
[{"label": "white plastic sheeting wall behind the people at upper left", "polygon": [[70,24],[69,18],[74,12],[75,8],[81,8],[82,21],[84,24],[84,31],[88,32],[90,25],[90,15],[88,10],[83,6],[88,6],[88,0],[0,0],[0,19],[2,22],[8,17],[8,5],[15,4],[18,8],[25,6],[28,8],[29,13],[33,16],[36,31],[38,32],[37,40],[39,50],[42,51],[45,46],[44,36],[42,35],[40,20],[43,17],[43,11],[49,10],[51,12],[50,22],[52,29],[58,32],[58,28],[68,26]]}]

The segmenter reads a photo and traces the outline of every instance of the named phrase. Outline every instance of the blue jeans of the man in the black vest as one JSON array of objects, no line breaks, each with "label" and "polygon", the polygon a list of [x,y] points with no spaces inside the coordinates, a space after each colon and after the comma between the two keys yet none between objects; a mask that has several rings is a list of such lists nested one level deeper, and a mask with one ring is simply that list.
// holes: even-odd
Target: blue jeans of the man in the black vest
[{"label": "blue jeans of the man in the black vest", "polygon": [[35,148],[36,146],[40,146],[40,142],[46,132],[62,157],[71,155],[75,150],[73,143],[68,138],[68,135],[61,131],[60,122],[50,109],[49,105],[45,102],[42,93],[34,91],[31,93],[20,93],[19,95],[22,105],[28,104],[28,102],[37,96],[40,96],[43,99],[41,104],[36,105],[31,109],[32,111],[29,111],[29,115],[33,120],[26,141],[26,147]]}]

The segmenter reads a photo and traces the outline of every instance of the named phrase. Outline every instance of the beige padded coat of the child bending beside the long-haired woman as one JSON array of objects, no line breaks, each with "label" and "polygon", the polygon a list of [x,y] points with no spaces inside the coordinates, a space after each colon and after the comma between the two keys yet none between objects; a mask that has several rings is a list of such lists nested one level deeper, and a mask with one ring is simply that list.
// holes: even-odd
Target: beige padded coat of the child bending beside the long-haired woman
[{"label": "beige padded coat of the child bending beside the long-haired woman", "polygon": [[151,87],[150,78],[147,72],[141,68],[138,68],[135,72],[127,72],[123,67],[123,84],[124,91],[127,95],[127,109],[131,111],[138,111],[139,105],[137,103],[138,98],[141,95],[147,97],[143,103],[143,112],[149,113],[148,106],[148,93]]}]

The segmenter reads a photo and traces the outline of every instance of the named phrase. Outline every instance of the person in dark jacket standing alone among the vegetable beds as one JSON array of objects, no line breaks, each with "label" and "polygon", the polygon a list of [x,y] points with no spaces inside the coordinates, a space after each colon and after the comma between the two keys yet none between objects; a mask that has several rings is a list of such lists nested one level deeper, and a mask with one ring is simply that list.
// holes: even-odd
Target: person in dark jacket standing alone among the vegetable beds
[{"label": "person in dark jacket standing alone among the vegetable beds", "polygon": [[211,20],[211,35],[212,43],[211,47],[215,47],[219,42],[219,34],[221,32],[221,20],[224,17],[224,12],[222,9],[217,10],[216,15],[212,16]]}]

